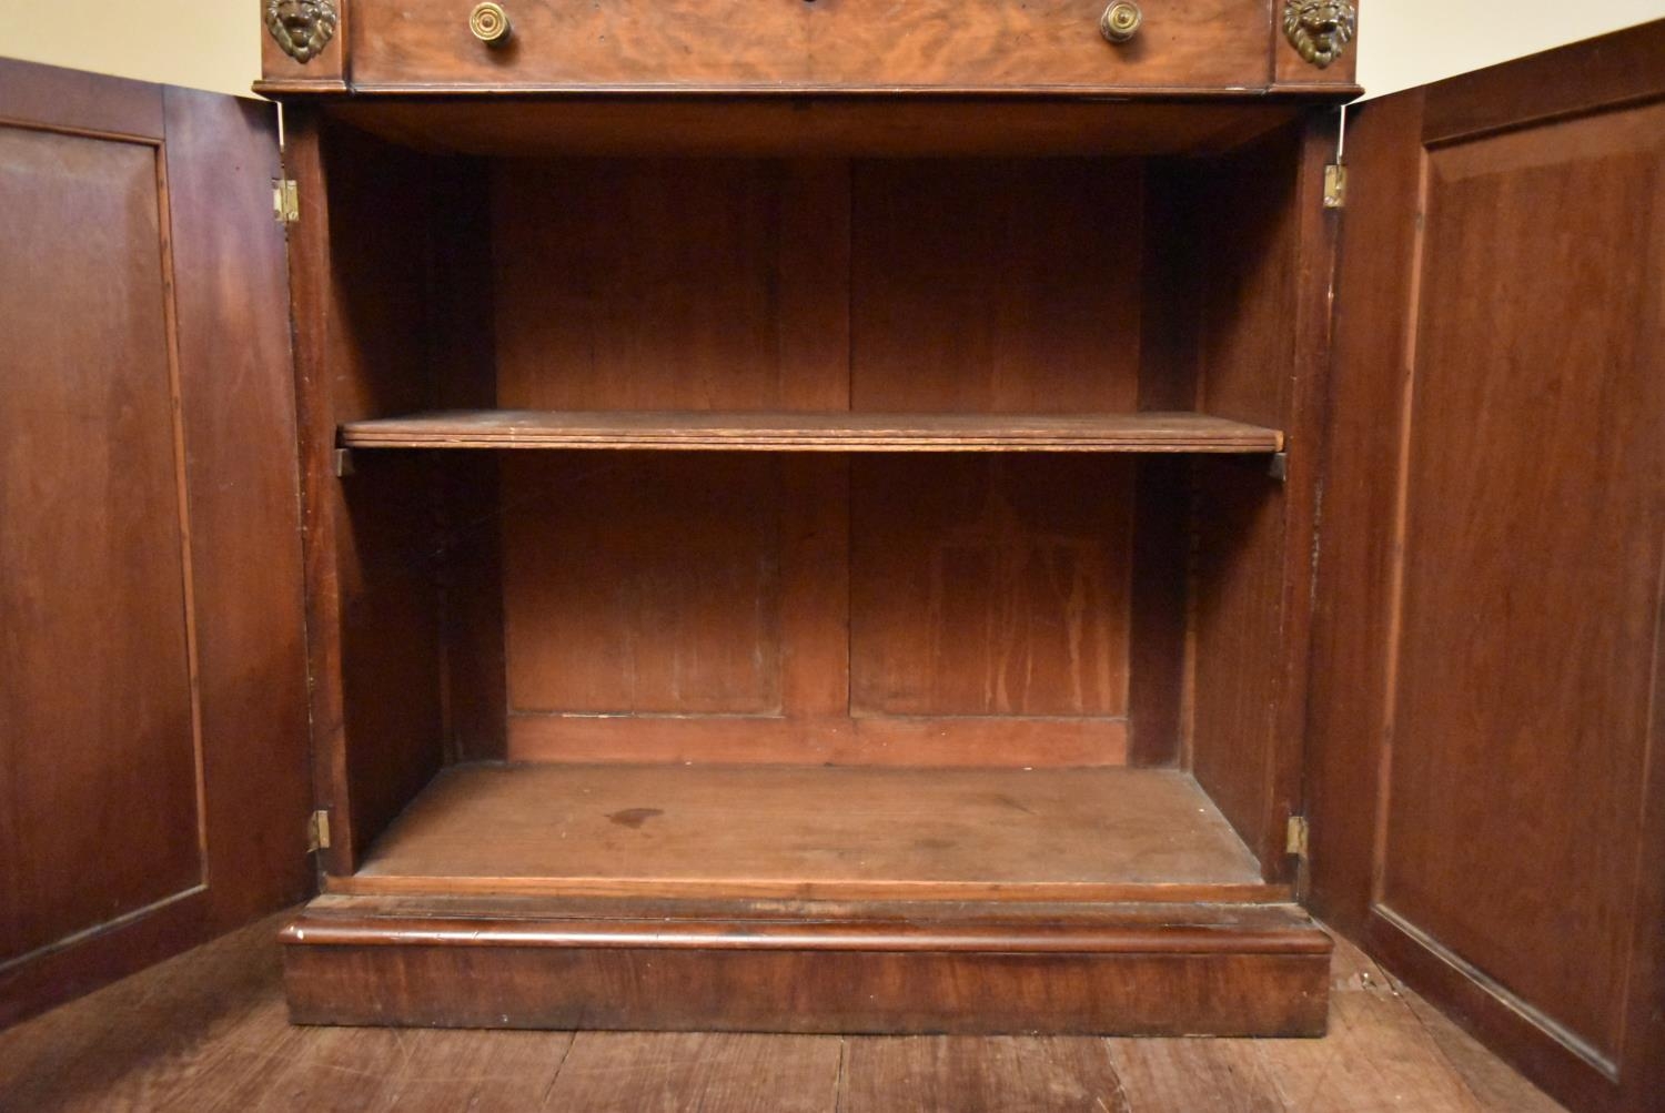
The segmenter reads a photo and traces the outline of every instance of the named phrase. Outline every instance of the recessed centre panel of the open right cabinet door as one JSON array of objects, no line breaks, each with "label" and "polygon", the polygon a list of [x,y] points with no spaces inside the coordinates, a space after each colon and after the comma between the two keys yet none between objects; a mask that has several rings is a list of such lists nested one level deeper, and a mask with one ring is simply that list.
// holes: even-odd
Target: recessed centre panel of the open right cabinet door
[{"label": "recessed centre panel of the open right cabinet door", "polygon": [[[1430,155],[1402,494],[1379,900],[1603,1056],[1625,1015],[1665,562],[1665,318],[1643,293],[1665,238],[1637,235],[1665,233],[1662,136],[1653,106]],[[1573,198],[1630,216],[1545,228]],[[1577,283],[1487,288],[1480,266]],[[1480,321],[1502,343],[1479,348]],[[1454,684],[1459,662],[1489,682]],[[1455,790],[1484,777],[1512,807]],[[1547,917],[1540,893],[1567,883],[1578,898]],[[1577,970],[1545,960],[1552,942]]]}]

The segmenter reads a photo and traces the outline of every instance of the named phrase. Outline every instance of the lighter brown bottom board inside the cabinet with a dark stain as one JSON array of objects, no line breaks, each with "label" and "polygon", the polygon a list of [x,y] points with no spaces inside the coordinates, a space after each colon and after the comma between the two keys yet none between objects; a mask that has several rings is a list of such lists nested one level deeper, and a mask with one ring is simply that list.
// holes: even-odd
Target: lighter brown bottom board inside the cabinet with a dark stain
[{"label": "lighter brown bottom board inside the cabinet with a dark stain", "polygon": [[1267,900],[1185,774],[1156,769],[461,765],[343,893]]}]

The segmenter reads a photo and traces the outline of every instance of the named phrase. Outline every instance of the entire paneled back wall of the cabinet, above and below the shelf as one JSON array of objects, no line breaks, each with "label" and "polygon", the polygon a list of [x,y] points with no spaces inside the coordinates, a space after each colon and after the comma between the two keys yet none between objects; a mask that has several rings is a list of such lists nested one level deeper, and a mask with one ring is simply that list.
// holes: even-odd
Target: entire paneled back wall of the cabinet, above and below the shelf
[{"label": "entire paneled back wall of the cabinet, above and below the shelf", "polygon": [[[504,160],[498,404],[1136,409],[1141,191],[1106,160]],[[1119,764],[1131,484],[511,458],[509,755]]]}]

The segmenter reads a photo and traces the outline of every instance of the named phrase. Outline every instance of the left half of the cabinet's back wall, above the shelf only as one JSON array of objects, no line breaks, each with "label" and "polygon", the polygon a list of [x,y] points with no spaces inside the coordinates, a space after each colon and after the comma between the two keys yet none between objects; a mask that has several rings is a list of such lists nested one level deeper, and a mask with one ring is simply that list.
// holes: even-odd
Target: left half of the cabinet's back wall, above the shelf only
[{"label": "left half of the cabinet's back wall, above the shelf only", "polygon": [[498,406],[849,406],[842,163],[500,163],[493,203]]}]

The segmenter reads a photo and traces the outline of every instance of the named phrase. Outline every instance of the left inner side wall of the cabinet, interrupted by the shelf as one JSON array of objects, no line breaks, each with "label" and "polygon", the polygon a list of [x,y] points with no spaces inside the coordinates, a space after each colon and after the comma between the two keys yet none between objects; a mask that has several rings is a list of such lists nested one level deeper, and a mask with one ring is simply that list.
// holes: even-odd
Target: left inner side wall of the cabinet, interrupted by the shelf
[{"label": "left inner side wall of the cabinet, interrupted by the shelf", "polygon": [[320,807],[330,872],[360,855],[443,754],[435,463],[361,454],[343,421],[426,409],[426,160],[315,113],[288,115],[301,221],[290,240]]}]

